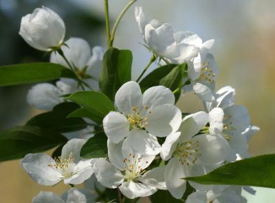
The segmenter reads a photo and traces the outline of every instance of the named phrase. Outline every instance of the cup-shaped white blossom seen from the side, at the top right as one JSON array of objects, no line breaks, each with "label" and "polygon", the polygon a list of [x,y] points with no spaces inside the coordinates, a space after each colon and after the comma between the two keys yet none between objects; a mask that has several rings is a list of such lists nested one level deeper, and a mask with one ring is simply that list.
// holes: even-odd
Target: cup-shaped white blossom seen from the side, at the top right
[{"label": "cup-shaped white blossom seen from the side, at the top right", "polygon": [[179,63],[197,56],[199,49],[194,45],[178,42],[171,25],[155,19],[148,22],[142,7],[135,8],[135,20],[145,46],[156,56],[169,62],[176,60]]}]

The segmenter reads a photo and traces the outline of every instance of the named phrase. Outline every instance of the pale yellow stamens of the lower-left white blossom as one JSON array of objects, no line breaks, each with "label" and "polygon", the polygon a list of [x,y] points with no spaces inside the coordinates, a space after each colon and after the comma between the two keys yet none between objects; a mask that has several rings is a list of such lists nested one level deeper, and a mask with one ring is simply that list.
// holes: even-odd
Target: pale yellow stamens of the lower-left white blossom
[{"label": "pale yellow stamens of the lower-left white blossom", "polygon": [[72,152],[69,153],[68,158],[64,156],[62,159],[61,156],[58,158],[54,158],[56,164],[47,165],[48,167],[52,167],[56,171],[62,174],[64,178],[70,178],[74,175],[74,158]]}]

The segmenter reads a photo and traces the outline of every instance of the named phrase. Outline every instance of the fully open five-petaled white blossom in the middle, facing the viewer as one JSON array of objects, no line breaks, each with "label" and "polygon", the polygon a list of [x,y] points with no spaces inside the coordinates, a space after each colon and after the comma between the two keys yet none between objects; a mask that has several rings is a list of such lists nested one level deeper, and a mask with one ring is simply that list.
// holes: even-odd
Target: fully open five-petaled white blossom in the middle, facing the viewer
[{"label": "fully open five-petaled white blossom in the middle, facing the viewer", "polygon": [[137,152],[158,154],[156,136],[168,136],[181,124],[181,111],[174,103],[174,94],[164,86],[148,88],[142,95],[137,82],[126,82],[115,94],[118,112],[109,112],[103,119],[104,132],[113,143],[127,137]]}]

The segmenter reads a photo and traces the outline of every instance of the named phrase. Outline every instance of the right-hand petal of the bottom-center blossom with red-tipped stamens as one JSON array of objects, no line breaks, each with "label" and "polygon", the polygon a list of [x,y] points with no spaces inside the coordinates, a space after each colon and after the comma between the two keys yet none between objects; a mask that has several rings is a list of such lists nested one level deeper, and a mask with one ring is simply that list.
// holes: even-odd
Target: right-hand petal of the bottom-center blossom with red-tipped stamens
[{"label": "right-hand petal of the bottom-center blossom with red-tipped stamens", "polygon": [[142,178],[139,178],[139,181],[146,185],[156,187],[157,189],[166,189],[164,171],[165,167],[156,167],[147,171]]}]

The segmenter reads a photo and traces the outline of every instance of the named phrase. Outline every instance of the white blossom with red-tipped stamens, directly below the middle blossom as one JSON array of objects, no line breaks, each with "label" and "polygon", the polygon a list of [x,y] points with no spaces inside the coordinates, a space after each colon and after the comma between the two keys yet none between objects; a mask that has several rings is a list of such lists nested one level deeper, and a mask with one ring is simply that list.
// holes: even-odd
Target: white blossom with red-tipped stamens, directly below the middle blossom
[{"label": "white blossom with red-tipped stamens, directly below the middle blossom", "polygon": [[108,155],[111,163],[104,158],[95,161],[96,178],[104,187],[118,187],[130,199],[152,195],[157,189],[166,189],[164,167],[146,171],[155,156],[135,152],[129,141],[115,144],[109,140]]}]

